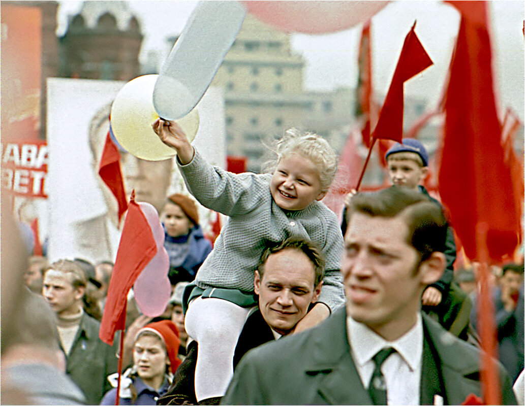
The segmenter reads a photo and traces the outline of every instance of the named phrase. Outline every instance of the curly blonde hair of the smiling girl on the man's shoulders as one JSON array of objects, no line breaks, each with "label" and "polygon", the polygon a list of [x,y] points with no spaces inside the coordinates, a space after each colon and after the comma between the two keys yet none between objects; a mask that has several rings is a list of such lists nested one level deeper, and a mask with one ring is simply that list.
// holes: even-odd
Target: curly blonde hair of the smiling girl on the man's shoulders
[{"label": "curly blonde hair of the smiling girl on the man's shoulders", "polygon": [[317,167],[321,192],[328,191],[337,172],[338,158],[324,138],[315,133],[292,128],[286,130],[282,138],[275,141],[270,149],[277,155],[277,159],[267,162],[262,167],[263,172],[273,173],[283,157],[299,154]]}]

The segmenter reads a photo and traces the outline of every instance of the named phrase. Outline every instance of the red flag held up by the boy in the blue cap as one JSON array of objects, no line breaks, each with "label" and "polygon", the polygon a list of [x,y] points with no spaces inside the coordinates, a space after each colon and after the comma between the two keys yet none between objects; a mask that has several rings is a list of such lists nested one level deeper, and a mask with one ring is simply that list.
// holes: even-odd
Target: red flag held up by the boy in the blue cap
[{"label": "red flag held up by the boy in the blue cap", "polygon": [[405,37],[392,83],[386,94],[372,137],[401,142],[403,139],[403,84],[433,64],[414,32]]}]

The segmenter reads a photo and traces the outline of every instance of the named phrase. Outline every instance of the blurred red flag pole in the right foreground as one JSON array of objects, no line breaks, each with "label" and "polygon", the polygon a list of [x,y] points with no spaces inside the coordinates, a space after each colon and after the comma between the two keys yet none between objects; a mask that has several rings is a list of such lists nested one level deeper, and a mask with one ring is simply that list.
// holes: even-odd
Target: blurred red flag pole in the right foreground
[{"label": "blurred red flag pole in the right foreground", "polygon": [[476,247],[480,260],[478,282],[480,285],[478,307],[478,325],[481,340],[481,390],[485,404],[501,404],[499,373],[496,369],[496,327],[494,323],[494,305],[489,286],[489,253],[487,248],[488,225],[480,222],[476,225]]}]

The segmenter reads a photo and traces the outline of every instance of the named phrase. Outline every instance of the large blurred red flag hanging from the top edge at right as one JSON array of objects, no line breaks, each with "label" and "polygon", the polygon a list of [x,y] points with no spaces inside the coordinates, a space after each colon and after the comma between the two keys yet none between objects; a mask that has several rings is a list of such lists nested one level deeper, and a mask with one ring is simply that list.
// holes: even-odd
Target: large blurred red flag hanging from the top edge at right
[{"label": "large blurred red flag hanging from the top edge at right", "polygon": [[499,263],[517,246],[520,218],[504,162],[492,88],[487,3],[450,3],[464,14],[445,99],[439,195],[467,257],[480,258],[476,225],[485,222],[490,260]]}]

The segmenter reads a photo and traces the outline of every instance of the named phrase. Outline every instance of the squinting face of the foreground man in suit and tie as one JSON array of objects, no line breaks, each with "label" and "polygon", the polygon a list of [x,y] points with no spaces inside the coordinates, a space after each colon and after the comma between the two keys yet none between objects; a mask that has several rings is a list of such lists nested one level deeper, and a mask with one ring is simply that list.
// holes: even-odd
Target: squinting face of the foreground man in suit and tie
[{"label": "squinting face of the foreground man in suit and tie", "polygon": [[346,312],[388,340],[414,325],[423,287],[435,282],[426,266],[418,269],[419,254],[407,235],[399,217],[355,212],[344,238]]}]

